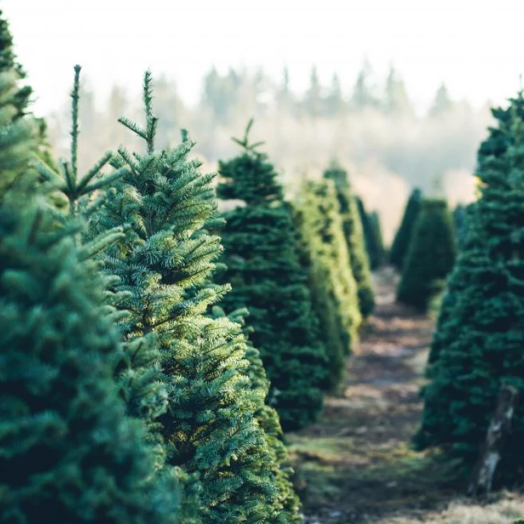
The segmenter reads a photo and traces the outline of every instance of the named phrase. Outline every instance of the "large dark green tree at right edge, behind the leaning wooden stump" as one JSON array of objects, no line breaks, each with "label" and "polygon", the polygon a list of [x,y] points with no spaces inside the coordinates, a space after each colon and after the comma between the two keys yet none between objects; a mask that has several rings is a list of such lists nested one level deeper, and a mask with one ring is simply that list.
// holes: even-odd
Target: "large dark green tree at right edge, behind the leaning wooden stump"
[{"label": "large dark green tree at right edge, behind the leaning wooden stump", "polygon": [[[502,384],[524,389],[523,94],[493,115],[497,127],[477,159],[480,198],[468,210],[415,439],[419,449],[442,447],[465,474],[479,458]],[[498,483],[522,479],[523,438],[524,405],[518,402]]]}]

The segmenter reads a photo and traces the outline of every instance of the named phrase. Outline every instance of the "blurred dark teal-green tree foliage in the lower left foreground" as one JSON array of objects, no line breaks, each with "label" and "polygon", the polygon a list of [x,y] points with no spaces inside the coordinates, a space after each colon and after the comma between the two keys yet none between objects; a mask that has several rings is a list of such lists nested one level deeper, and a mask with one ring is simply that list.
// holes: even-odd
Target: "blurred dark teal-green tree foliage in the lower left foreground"
[{"label": "blurred dark teal-green tree foliage in the lower left foreground", "polygon": [[96,265],[19,210],[0,211],[0,521],[181,523],[182,478],[119,398]]}]

